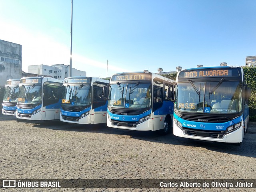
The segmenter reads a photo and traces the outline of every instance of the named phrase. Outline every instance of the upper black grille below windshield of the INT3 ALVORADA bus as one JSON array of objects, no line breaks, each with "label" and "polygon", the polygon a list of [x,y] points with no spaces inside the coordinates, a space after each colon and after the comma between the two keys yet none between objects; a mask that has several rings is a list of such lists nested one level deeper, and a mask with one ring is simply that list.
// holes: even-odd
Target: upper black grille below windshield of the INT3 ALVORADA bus
[{"label": "upper black grille below windshield of the INT3 ALVORADA bus", "polygon": [[230,121],[228,117],[216,117],[216,116],[181,115],[180,118],[187,121],[196,121],[196,122],[205,122],[205,123],[226,123]]}]

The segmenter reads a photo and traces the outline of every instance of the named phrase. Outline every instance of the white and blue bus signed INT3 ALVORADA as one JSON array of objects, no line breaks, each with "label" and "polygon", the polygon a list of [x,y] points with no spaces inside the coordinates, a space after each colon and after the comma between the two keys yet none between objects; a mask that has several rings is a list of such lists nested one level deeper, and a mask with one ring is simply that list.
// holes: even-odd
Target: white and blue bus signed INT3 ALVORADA
[{"label": "white and blue bus signed INT3 ALVORADA", "polygon": [[250,94],[241,67],[221,63],[220,67],[199,65],[179,71],[174,135],[240,144],[247,132]]}]

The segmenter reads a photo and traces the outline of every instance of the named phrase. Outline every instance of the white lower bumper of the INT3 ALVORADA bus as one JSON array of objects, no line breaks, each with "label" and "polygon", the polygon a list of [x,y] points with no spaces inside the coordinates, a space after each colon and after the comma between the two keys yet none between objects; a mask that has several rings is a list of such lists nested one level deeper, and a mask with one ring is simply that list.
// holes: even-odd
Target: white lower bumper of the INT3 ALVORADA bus
[{"label": "white lower bumper of the INT3 ALVORADA bus", "polygon": [[[243,124],[242,124],[243,125]],[[204,141],[216,141],[216,142],[224,142],[224,143],[240,143],[243,141],[243,126],[241,126],[236,131],[233,131],[231,133],[228,133],[224,135],[222,139],[218,138],[209,138],[209,137],[198,137],[198,136],[192,136],[192,135],[186,135],[183,130],[181,130],[175,123],[173,125],[173,134],[178,137],[184,137],[189,139],[198,139],[198,140],[204,140]]]}]

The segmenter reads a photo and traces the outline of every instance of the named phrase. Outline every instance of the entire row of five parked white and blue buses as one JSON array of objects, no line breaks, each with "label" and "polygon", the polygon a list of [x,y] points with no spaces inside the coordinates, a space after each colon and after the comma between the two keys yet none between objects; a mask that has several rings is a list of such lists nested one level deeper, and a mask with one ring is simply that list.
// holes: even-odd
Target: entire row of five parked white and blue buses
[{"label": "entire row of five parked white and blue buses", "polygon": [[106,123],[108,127],[161,131],[190,139],[241,143],[248,125],[247,87],[241,67],[181,70],[176,82],[155,73],[96,77],[25,77],[8,80],[3,114],[19,119]]}]

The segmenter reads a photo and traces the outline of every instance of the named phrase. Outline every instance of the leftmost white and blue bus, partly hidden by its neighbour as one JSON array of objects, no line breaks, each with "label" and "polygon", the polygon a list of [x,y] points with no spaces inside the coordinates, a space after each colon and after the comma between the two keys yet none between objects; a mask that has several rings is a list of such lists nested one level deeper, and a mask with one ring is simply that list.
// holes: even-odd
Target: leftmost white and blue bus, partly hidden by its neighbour
[{"label": "leftmost white and blue bus, partly hidden by its neighbour", "polygon": [[9,79],[6,81],[3,100],[3,115],[16,116],[16,105],[19,93],[20,79]]}]

